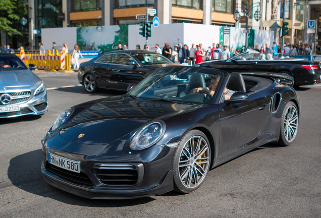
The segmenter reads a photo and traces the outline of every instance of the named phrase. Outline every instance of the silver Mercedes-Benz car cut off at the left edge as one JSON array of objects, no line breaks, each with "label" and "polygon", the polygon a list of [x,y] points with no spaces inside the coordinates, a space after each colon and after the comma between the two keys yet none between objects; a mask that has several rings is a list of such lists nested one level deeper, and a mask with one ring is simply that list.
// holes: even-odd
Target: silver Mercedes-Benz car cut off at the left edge
[{"label": "silver Mercedes-Benz car cut off at the left edge", "polygon": [[0,118],[43,115],[48,111],[42,80],[14,54],[0,53]]}]

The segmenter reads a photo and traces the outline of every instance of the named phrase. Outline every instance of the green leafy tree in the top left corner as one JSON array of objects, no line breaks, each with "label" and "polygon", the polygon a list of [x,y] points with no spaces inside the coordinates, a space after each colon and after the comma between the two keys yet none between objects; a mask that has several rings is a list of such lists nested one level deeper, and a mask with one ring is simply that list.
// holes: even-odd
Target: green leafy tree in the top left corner
[{"label": "green leafy tree in the top left corner", "polygon": [[24,2],[20,0],[0,0],[0,30],[11,35],[13,32],[22,35],[16,29],[19,20],[25,16]]}]

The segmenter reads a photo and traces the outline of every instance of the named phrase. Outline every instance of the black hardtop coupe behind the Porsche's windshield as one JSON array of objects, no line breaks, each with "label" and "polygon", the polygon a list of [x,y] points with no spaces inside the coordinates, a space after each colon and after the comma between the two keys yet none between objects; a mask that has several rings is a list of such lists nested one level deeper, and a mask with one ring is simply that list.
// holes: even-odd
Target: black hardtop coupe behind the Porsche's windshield
[{"label": "black hardtop coupe behind the Porsche's windshield", "polygon": [[111,51],[82,63],[78,81],[89,93],[99,89],[127,91],[157,68],[169,65],[176,64],[153,51]]}]

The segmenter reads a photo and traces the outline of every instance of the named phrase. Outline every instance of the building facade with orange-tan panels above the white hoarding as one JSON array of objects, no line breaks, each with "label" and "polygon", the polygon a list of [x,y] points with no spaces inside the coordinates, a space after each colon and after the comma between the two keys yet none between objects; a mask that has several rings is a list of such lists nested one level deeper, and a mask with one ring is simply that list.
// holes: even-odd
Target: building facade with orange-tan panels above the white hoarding
[{"label": "building facade with orange-tan panels above the white hoarding", "polygon": [[[241,16],[244,16],[239,6],[246,5],[248,2],[249,5],[255,5],[249,14],[250,29],[270,30],[274,22],[282,25],[281,20],[285,14],[290,28],[285,42],[299,43],[308,40],[304,23],[307,15],[312,17],[317,15],[307,12],[312,8],[314,10],[317,6],[314,2],[321,1],[286,1],[284,13],[282,2],[277,0],[28,0],[28,5],[29,21],[34,21],[33,29],[41,30],[54,27],[138,24],[140,21],[136,20],[135,16],[146,14],[146,8],[157,10],[155,16],[159,18],[161,24],[195,23],[245,27],[244,19],[236,23],[233,14],[238,11]],[[309,2],[309,9],[305,7],[307,2]],[[259,21],[253,19],[257,9],[261,13]],[[31,22],[29,22],[29,42],[36,49],[41,40],[41,33],[34,35],[32,42],[31,29]],[[278,30],[275,33],[277,41],[279,35]]]}]

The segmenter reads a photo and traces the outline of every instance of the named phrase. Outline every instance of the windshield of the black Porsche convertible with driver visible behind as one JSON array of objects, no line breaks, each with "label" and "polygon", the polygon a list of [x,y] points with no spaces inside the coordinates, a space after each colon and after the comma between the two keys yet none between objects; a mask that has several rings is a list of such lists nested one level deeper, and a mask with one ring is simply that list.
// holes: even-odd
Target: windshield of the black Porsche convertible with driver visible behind
[{"label": "windshield of the black Porsche convertible with driver visible behind", "polygon": [[212,103],[224,74],[196,67],[160,68],[146,77],[128,94],[142,99],[183,103]]}]

